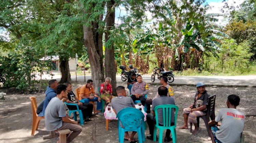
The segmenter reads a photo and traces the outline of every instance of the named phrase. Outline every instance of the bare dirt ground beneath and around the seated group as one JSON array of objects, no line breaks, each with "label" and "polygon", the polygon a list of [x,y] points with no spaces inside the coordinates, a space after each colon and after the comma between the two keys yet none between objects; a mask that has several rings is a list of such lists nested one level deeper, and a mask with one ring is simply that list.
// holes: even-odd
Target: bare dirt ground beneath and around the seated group
[{"label": "bare dirt ground beneath and around the seated group", "polygon": [[[72,83],[73,91],[78,86],[84,83]],[[126,82],[117,83],[127,87]],[[159,85],[149,85],[150,92],[148,99],[153,98],[156,94]],[[182,110],[188,105],[193,103],[193,97],[196,92],[195,87],[191,86],[173,86],[175,92],[175,103],[179,107],[177,116],[177,127],[183,125]],[[215,115],[219,109],[226,107],[226,100],[229,94],[237,94],[240,96],[241,101],[238,110],[246,115],[244,134],[245,142],[256,142],[256,88],[223,88],[223,87],[206,87],[206,90],[211,95],[216,94]],[[57,142],[58,138],[43,140],[43,136],[49,132],[45,130],[44,120],[41,120],[39,128],[35,131],[35,136],[31,136],[32,124],[32,111],[30,96],[35,96],[38,102],[44,99],[44,93],[19,93],[15,89],[0,89],[0,92],[6,93],[5,99],[0,100],[0,143],[52,143]],[[68,112],[68,110],[67,110]],[[93,116],[92,121],[87,122],[83,126],[83,131],[73,142],[86,142],[86,143],[117,143],[118,142],[118,129],[117,121],[113,120],[109,123],[109,131],[105,130],[105,118],[103,115]],[[193,127],[194,129],[194,127]],[[145,130],[145,136],[149,133],[148,129]],[[197,135],[191,135],[189,129],[176,128],[177,142],[178,143],[210,143],[208,141],[208,133],[205,128],[204,122],[200,119],[200,131]],[[158,136],[158,135],[157,135]],[[135,138],[138,140],[137,135]],[[128,141],[125,141],[128,143]],[[147,143],[153,141],[145,139]]]}]

